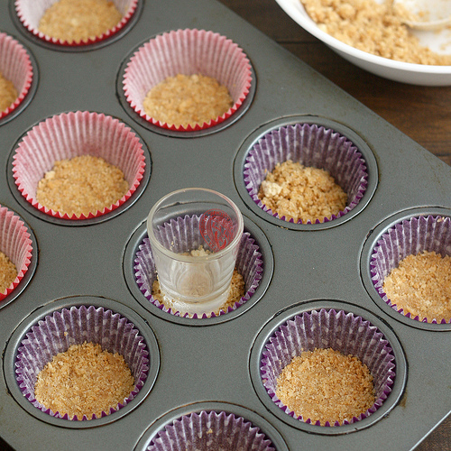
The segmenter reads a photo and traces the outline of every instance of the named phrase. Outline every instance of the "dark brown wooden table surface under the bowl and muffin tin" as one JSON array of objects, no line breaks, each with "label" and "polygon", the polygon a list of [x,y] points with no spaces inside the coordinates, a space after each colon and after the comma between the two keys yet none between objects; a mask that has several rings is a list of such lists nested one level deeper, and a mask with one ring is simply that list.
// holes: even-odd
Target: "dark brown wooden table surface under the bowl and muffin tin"
[{"label": "dark brown wooden table surface under the bowl and muffin tin", "polygon": [[[407,85],[359,69],[291,20],[275,0],[220,1],[451,166],[451,86]],[[416,450],[451,451],[451,416]]]}]

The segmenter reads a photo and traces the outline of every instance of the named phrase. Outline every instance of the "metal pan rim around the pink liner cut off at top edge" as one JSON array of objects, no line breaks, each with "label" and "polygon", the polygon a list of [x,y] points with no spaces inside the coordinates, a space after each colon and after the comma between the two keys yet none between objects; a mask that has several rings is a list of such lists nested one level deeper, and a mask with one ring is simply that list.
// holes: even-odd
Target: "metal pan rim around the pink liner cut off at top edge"
[{"label": "metal pan rim around the pink liner cut off at top edge", "polygon": [[122,24],[115,32],[112,34],[109,34],[108,36],[103,37],[100,40],[89,40],[86,43],[79,42],[79,43],[58,43],[53,42],[49,36],[46,38],[40,37],[38,33],[34,33],[29,31],[23,22],[21,21],[19,15],[17,14],[17,11],[15,9],[15,1],[16,0],[9,0],[9,14],[11,16],[11,19],[14,23],[14,26],[17,30],[19,30],[25,38],[27,38],[29,41],[32,41],[32,43],[37,44],[44,49],[48,49],[51,51],[65,51],[69,53],[77,53],[77,52],[83,52],[83,51],[95,51],[97,49],[101,49],[103,47],[106,47],[107,45],[112,44],[115,41],[120,40],[122,37],[124,37],[125,34],[130,32],[134,25],[138,23],[141,14],[143,12],[143,6],[144,6],[144,0],[136,0],[136,7],[131,14],[131,16],[128,18],[126,23]]}]

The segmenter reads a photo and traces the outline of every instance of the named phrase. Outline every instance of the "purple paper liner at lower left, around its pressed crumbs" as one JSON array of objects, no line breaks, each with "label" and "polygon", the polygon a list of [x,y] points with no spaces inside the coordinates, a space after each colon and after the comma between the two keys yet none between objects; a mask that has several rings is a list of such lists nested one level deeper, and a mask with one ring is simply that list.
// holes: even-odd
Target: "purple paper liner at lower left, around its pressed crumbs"
[{"label": "purple paper liner at lower left, around its pressed crumbs", "polygon": [[[102,350],[118,353],[124,357],[134,378],[134,388],[130,395],[102,417],[122,409],[133,400],[142,389],[149,371],[149,352],[133,323],[109,309],[94,306],[63,308],[46,316],[35,324],[23,338],[17,350],[15,378],[23,396],[32,405],[52,417],[69,419],[68,414],[53,412],[34,398],[34,386],[38,374],[52,357],[64,353],[71,345],[84,342],[99,344]],[[93,415],[92,420],[96,419]],[[87,420],[84,415],[83,420]],[[77,416],[72,420],[77,421]],[[81,419],[79,419],[81,420]]]}]

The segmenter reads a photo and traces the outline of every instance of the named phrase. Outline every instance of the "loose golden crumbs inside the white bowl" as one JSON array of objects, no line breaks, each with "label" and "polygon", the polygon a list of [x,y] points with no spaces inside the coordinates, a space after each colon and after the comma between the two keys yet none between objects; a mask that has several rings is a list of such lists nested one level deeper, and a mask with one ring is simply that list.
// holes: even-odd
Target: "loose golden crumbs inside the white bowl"
[{"label": "loose golden crumbs inside the white bowl", "polygon": [[439,55],[420,45],[402,23],[406,12],[392,0],[299,0],[323,32],[355,49],[391,60],[451,65],[451,55]]}]

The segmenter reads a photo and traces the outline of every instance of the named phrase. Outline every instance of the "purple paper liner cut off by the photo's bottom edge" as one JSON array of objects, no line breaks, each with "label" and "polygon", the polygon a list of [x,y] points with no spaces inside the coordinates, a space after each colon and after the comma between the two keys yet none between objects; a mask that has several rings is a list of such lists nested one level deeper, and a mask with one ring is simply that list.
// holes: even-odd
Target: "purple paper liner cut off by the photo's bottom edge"
[{"label": "purple paper liner cut off by the photo's bottom edge", "polygon": [[275,451],[271,440],[242,417],[224,411],[194,412],[162,428],[147,451]]}]

